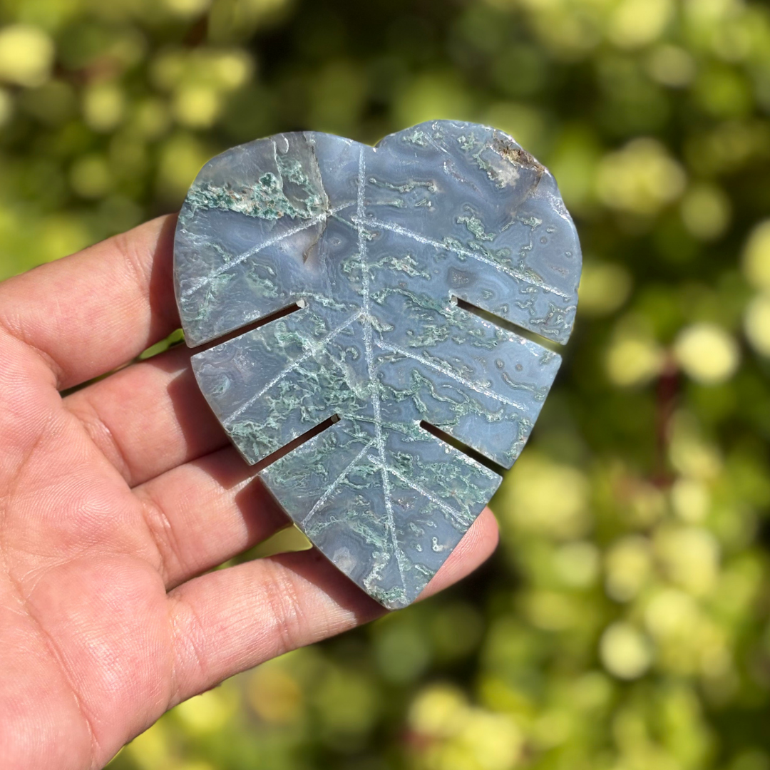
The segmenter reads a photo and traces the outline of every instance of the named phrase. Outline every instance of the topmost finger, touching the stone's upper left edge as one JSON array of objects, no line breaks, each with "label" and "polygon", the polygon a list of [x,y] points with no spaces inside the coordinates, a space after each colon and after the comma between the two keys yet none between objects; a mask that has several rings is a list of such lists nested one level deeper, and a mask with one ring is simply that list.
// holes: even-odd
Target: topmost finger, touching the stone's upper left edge
[{"label": "topmost finger, touching the stone's upper left edge", "polygon": [[0,283],[0,326],[39,353],[59,390],[131,360],[179,327],[176,216]]}]

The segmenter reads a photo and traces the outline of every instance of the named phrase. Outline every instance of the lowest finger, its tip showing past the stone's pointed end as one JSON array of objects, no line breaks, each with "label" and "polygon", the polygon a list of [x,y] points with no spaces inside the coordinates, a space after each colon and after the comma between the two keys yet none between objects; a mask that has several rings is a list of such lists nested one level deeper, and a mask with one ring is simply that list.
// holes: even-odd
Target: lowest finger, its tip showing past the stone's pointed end
[{"label": "lowest finger, its tip showing past the stone's pointed end", "polygon": [[[486,508],[423,596],[473,571],[496,544],[497,524]],[[316,550],[196,577],[172,591],[169,601],[174,702],[385,612]]]}]

